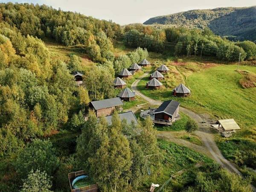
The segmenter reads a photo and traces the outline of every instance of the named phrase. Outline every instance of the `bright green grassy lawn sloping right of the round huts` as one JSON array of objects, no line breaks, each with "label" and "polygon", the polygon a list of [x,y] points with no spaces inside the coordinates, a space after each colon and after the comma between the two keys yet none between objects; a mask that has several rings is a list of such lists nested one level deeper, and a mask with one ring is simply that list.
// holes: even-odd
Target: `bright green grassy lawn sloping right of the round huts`
[{"label": "bright green grassy lawn sloping right of the round huts", "polygon": [[[146,90],[148,78],[142,79],[138,88],[143,94],[161,101],[175,99],[181,105],[199,113],[209,113],[218,119],[234,118],[241,128],[256,126],[256,88],[244,89],[239,84],[241,74],[235,65],[218,65],[192,73],[186,85],[192,91],[187,98],[172,96],[171,88]],[[255,73],[256,67],[242,66],[241,70]]]}]

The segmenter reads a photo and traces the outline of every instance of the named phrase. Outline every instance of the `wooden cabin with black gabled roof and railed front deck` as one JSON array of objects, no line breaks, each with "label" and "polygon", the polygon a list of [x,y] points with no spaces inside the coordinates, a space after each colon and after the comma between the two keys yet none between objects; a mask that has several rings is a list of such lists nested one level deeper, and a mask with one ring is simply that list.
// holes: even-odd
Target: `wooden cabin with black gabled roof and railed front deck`
[{"label": "wooden cabin with black gabled roof and railed front deck", "polygon": [[179,102],[175,100],[165,101],[154,111],[154,123],[172,125],[175,118],[179,117],[179,112]]}]

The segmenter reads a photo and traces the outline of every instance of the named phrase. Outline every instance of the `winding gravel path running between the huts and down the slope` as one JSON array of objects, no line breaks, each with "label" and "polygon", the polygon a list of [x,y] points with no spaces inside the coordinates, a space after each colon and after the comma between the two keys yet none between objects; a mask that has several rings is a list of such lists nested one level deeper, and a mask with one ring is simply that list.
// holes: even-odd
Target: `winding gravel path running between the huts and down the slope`
[{"label": "winding gravel path running between the huts and down the slope", "polygon": [[[151,98],[143,95],[137,89],[137,85],[140,82],[140,80],[148,75],[149,75],[149,73],[144,73],[143,76],[141,76],[136,81],[134,81],[133,84],[131,84],[131,89],[134,90],[137,95],[139,95],[140,97],[145,99],[150,105],[161,105],[162,104],[161,101],[151,99]],[[201,138],[201,141],[203,142],[204,146],[195,145],[186,140],[177,139],[174,136],[172,136],[172,133],[169,131],[159,131],[157,136],[160,138],[164,138],[166,140],[170,140],[179,145],[184,145],[184,146],[191,148],[195,151],[201,152],[201,153],[207,155],[208,157],[211,157],[213,160],[218,162],[222,167],[224,167],[228,171],[236,173],[243,177],[241,172],[239,172],[239,170],[236,168],[236,165],[234,165],[233,163],[228,161],[221,154],[221,151],[219,150],[217,144],[215,143],[214,136],[212,134],[210,126],[202,123],[202,120],[207,119],[207,117],[205,117],[201,114],[194,113],[193,111],[183,108],[183,107],[180,107],[180,111],[182,111],[187,116],[191,117],[196,122],[198,122],[199,129],[198,129],[198,131],[195,131],[195,134]],[[253,191],[256,192],[256,188],[254,186],[252,186],[252,187],[253,187]]]}]

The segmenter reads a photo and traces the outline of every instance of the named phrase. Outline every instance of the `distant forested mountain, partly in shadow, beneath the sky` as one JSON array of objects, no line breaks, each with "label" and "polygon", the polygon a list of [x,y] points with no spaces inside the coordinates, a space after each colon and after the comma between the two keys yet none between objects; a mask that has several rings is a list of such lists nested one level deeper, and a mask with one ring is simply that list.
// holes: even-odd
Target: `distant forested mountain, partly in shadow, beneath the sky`
[{"label": "distant forested mountain, partly in shadow, beneath the sky", "polygon": [[191,10],[152,17],[143,24],[163,24],[188,28],[209,27],[221,36],[235,40],[256,40],[256,6]]}]

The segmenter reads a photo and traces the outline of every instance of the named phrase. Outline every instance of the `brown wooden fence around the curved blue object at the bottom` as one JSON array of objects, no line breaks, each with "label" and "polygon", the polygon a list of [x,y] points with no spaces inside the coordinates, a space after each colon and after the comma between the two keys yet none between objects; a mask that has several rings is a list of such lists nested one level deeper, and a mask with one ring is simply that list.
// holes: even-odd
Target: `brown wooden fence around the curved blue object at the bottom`
[{"label": "brown wooden fence around the curved blue object at the bottom", "polygon": [[73,189],[72,181],[73,181],[76,177],[78,177],[78,176],[80,176],[80,175],[85,175],[85,171],[84,171],[84,170],[81,170],[81,171],[78,171],[78,172],[72,172],[72,173],[69,173],[69,174],[68,174],[68,179],[69,179],[69,182],[70,182],[70,189],[71,189],[71,192],[98,192],[98,186],[97,186],[97,184],[84,186],[84,187],[81,187],[81,188],[78,188],[78,189]]}]

